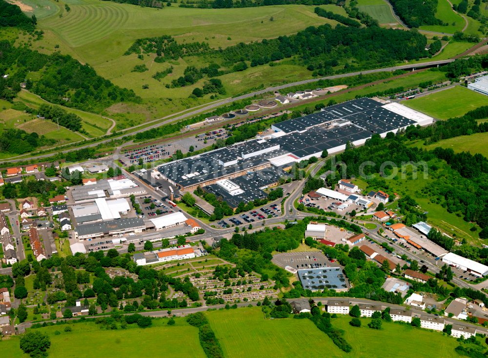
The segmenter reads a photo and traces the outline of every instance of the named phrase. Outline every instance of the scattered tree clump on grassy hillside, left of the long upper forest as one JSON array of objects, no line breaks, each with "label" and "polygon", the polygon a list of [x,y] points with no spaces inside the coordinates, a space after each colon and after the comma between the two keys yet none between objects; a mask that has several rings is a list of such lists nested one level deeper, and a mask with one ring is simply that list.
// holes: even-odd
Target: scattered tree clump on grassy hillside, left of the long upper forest
[{"label": "scattered tree clump on grassy hillside, left of the long upper forest", "polygon": [[154,38],[144,38],[136,40],[124,55],[155,53],[155,61],[178,60],[184,56],[195,56],[210,51],[210,46],[206,42],[178,43],[169,35]]}]

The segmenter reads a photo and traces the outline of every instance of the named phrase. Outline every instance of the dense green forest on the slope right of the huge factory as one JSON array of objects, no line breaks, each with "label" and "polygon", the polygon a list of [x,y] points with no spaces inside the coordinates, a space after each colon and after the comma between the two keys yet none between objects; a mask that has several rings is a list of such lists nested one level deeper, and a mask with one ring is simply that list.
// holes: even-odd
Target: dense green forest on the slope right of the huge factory
[{"label": "dense green forest on the slope right of the huge factory", "polygon": [[[488,191],[486,188],[488,159],[479,154],[471,155],[465,152],[455,154],[452,149],[435,148],[427,151],[410,147],[406,143],[408,138],[424,137],[427,139],[429,133],[432,136],[438,134],[437,127],[441,127],[439,129],[441,133],[459,133],[459,124],[463,120],[468,122],[468,126],[475,128],[473,119],[469,118],[450,119],[447,121],[448,124],[436,122],[433,126],[426,128],[410,126],[405,134],[395,136],[388,133],[385,139],[381,139],[379,135],[373,135],[362,147],[346,146],[346,151],[337,155],[335,160],[346,163],[347,178],[374,176],[378,173],[390,174],[389,167],[380,169],[385,158],[395,163],[398,168],[402,168],[403,163],[406,162],[427,162],[429,184],[419,187],[416,195],[432,198],[432,201],[446,208],[447,212],[459,213],[464,220],[476,222],[482,228],[479,233],[480,237],[486,239],[488,238]],[[477,131],[485,131],[487,126],[482,124],[476,128]],[[425,134],[424,131],[426,131]],[[471,129],[472,131],[473,129]],[[362,168],[363,172],[360,173],[361,163],[366,161],[375,164]],[[423,167],[419,166],[418,169],[421,171],[419,175],[422,175]],[[387,186],[387,180],[383,178],[375,180],[381,180],[383,185]],[[411,213],[406,215],[406,219],[410,221],[422,219],[414,204],[409,207]],[[419,217],[412,218],[412,216]],[[410,224],[410,222],[407,223]]]}]

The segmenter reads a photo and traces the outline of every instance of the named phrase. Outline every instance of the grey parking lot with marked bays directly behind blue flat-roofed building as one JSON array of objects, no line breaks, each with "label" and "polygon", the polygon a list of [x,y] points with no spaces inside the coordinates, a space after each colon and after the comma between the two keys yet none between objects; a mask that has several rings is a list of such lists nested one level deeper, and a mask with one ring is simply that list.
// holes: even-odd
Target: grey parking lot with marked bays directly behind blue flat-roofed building
[{"label": "grey parking lot with marked bays directly behind blue flat-roofed building", "polygon": [[271,261],[282,268],[290,266],[297,270],[305,268],[340,267],[336,261],[329,260],[321,251],[285,252],[276,254]]}]

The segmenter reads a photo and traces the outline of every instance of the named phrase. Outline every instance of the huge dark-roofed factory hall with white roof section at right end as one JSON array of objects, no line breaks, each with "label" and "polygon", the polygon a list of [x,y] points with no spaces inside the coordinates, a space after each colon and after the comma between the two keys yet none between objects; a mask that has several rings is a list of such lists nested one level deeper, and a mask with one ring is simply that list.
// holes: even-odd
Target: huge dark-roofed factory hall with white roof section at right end
[{"label": "huge dark-roofed factory hall with white roof section at right end", "polygon": [[273,124],[275,133],[269,139],[252,139],[165,163],[151,176],[161,177],[183,191],[195,190],[271,166],[285,168],[293,162],[320,157],[324,150],[337,153],[346,148],[347,142],[361,145],[372,134],[385,137],[388,132],[426,125],[432,120],[398,103],[383,105],[372,99],[353,99],[319,113]]}]

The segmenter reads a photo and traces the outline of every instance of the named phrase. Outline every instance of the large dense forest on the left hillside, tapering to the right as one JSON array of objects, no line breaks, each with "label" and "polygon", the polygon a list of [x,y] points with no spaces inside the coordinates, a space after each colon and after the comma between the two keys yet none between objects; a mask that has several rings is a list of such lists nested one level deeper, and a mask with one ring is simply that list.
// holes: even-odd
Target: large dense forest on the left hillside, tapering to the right
[{"label": "large dense forest on the left hillside, tapering to the right", "polygon": [[[0,54],[0,72],[16,68],[6,82],[0,82],[3,98],[15,96],[29,72],[42,69],[38,80],[25,82],[26,88],[52,103],[100,112],[116,102],[141,101],[132,90],[103,79],[92,67],[70,56],[58,52],[45,55],[26,47],[15,47],[6,40],[0,41]],[[10,92],[5,89],[7,86]]]}]

